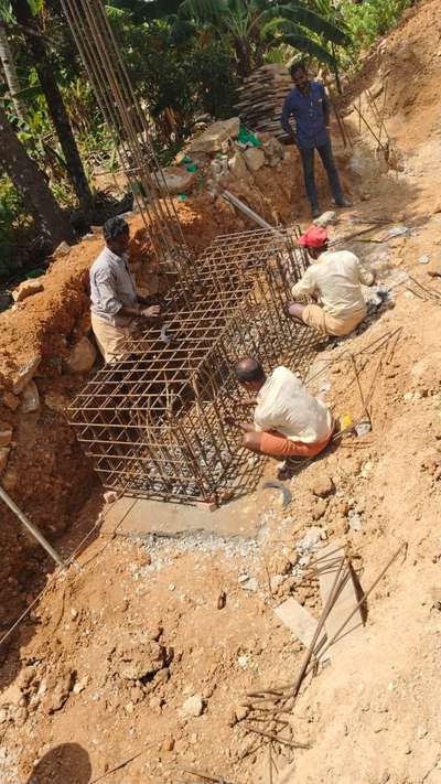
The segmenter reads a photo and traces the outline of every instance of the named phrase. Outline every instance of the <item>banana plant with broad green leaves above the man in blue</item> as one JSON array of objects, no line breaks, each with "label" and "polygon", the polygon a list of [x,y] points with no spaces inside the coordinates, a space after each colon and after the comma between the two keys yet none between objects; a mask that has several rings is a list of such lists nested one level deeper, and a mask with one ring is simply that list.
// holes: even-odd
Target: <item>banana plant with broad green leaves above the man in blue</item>
[{"label": "banana plant with broad green leaves above the man in blue", "polygon": [[282,43],[332,67],[336,58],[326,44],[349,43],[346,33],[325,17],[278,0],[183,0],[175,26],[189,21],[194,30],[211,31],[230,42],[240,78],[262,64],[266,52]]}]

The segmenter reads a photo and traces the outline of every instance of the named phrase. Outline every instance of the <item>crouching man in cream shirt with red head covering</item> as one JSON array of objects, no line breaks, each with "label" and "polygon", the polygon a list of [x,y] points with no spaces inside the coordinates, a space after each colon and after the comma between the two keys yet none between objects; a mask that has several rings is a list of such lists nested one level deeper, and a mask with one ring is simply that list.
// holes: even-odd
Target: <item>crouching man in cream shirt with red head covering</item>
[{"label": "crouching man in cream shirt with red head covering", "polygon": [[310,296],[312,304],[290,302],[287,312],[293,321],[312,326],[323,335],[348,335],[366,315],[362,283],[372,286],[374,276],[363,269],[348,250],[327,249],[327,232],[313,226],[299,238],[312,264],[292,288],[294,299]]}]

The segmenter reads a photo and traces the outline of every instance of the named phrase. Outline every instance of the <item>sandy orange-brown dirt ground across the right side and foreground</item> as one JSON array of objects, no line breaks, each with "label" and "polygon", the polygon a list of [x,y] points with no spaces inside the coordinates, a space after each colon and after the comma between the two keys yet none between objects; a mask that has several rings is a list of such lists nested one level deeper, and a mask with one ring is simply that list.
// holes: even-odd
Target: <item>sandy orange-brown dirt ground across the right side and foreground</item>
[{"label": "sandy orange-brown dirt ground across the right side and foreground", "polygon": [[[79,512],[72,500],[58,550],[69,555],[95,528],[80,569],[47,578],[3,656],[2,784],[178,782],[182,766],[233,784],[271,781],[266,739],[246,729],[241,704],[294,680],[304,647],[275,608],[293,595],[319,616],[299,559],[312,557],[311,541],[342,539],[364,589],[407,547],[370,594],[362,635],[303,683],[290,723],[308,748],[275,744],[273,780],[441,784],[441,280],[428,275],[441,264],[440,10],[440,0],[412,9],[353,88],[388,79],[402,167],[370,183],[334,236],[356,232],[354,217],[410,230],[385,239],[378,226],[368,236],[383,241],[351,241],[395,307],[318,354],[309,382],[353,421],[372,395],[372,431],[299,471],[286,507],[279,490],[260,486],[246,523],[232,511],[228,530],[216,528],[223,511],[201,529],[164,530],[159,518],[130,531],[96,485]],[[275,473],[268,463],[266,477]]]}]

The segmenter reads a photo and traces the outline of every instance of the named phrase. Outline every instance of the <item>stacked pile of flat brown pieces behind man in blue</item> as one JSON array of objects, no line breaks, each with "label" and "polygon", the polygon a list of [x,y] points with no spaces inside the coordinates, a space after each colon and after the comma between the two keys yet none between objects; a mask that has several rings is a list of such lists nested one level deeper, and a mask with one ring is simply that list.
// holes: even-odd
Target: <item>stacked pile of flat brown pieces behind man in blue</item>
[{"label": "stacked pile of flat brown pieces behind man in blue", "polygon": [[239,87],[236,110],[250,130],[269,132],[283,141],[287,135],[280,125],[283,100],[292,89],[284,65],[262,65]]}]

